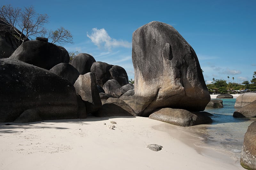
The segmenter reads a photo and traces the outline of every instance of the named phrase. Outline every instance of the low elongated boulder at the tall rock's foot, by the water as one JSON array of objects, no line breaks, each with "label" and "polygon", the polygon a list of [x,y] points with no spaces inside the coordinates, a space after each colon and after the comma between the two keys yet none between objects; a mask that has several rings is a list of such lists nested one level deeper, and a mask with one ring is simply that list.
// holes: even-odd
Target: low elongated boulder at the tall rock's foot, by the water
[{"label": "low elongated boulder at the tall rock's foot, by the water", "polygon": [[159,109],[149,115],[149,118],[184,127],[212,123],[210,117],[200,112],[189,112],[183,109],[172,108]]}]

